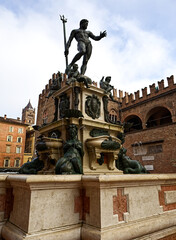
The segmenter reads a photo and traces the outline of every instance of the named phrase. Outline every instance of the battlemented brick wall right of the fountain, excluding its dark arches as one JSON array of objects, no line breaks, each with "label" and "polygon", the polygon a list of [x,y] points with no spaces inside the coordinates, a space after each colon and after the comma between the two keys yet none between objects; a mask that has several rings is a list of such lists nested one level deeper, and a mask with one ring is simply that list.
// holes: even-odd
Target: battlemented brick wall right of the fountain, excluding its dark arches
[{"label": "battlemented brick wall right of the fountain, excluding its dark arches", "polygon": [[[136,159],[143,165],[150,165],[150,167],[152,165],[154,170],[151,173],[176,172],[176,84],[173,76],[167,78],[167,84],[168,86],[165,87],[164,80],[161,80],[158,82],[158,89],[155,84],[149,86],[149,91],[145,87],[142,89],[142,96],[139,91],[135,94],[126,93],[124,97],[121,96],[122,104],[118,109],[119,120],[121,119],[122,122],[126,122],[130,116],[140,118],[143,129],[126,133],[124,147],[131,159]],[[111,102],[109,111],[113,107],[117,107],[117,104]],[[147,128],[149,113],[157,107],[164,107],[170,111],[172,123]],[[132,146],[141,143],[141,146]],[[134,151],[137,151],[138,155],[134,154]]]}]

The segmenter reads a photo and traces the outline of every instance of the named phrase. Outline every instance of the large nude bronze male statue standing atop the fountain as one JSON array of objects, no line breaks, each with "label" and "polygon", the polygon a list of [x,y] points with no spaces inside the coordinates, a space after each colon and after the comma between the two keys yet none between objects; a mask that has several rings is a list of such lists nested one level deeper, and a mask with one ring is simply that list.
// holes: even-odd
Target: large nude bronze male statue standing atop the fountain
[{"label": "large nude bronze male statue standing atop the fountain", "polygon": [[80,21],[80,28],[72,30],[68,42],[65,48],[65,56],[69,54],[69,47],[71,45],[72,40],[75,38],[78,42],[78,53],[73,58],[72,62],[67,66],[65,73],[68,74],[71,70],[74,63],[76,63],[83,56],[83,63],[81,67],[81,74],[84,75],[87,68],[87,62],[90,59],[92,53],[92,44],[89,38],[92,38],[95,41],[99,41],[100,39],[106,37],[106,31],[100,32],[99,36],[95,36],[92,32],[86,31],[88,26],[88,20],[82,19]]}]

